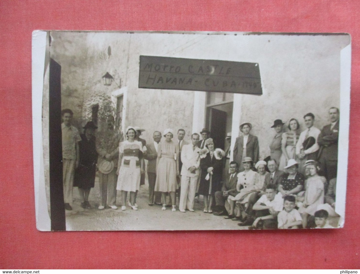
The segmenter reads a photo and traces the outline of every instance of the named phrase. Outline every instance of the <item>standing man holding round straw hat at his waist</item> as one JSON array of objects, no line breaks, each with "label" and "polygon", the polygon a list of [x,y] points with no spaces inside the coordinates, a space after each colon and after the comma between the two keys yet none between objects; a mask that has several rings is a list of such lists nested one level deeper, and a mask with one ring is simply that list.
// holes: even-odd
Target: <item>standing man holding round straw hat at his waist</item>
[{"label": "standing man holding round straw hat at his waist", "polygon": [[114,129],[114,121],[114,117],[109,115],[106,119],[106,127],[98,133],[98,138],[96,138],[96,150],[99,154],[100,210],[104,209],[107,203],[112,209],[117,209],[116,169],[119,157],[119,143],[122,138]]}]

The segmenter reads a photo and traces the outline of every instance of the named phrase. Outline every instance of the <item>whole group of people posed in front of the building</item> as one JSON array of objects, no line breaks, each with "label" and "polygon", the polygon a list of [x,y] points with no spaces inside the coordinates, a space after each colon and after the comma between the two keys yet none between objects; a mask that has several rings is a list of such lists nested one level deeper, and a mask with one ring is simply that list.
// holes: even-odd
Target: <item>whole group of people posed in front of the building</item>
[{"label": "whole group of people posed in front of the building", "polygon": [[[195,197],[203,195],[204,213],[225,215],[225,219],[251,229],[328,227],[326,219],[334,214],[338,108],[329,109],[331,124],[321,131],[313,126],[312,113],[304,116],[307,129],[301,133],[294,118],[289,120],[287,131],[282,120],[275,120],[270,156],[260,161],[259,141],[250,134],[252,125],[248,122],[240,125],[242,136],[236,139],[232,151],[231,134],[226,136],[228,148],[224,151],[215,147],[217,140],[214,143],[207,129],[200,133],[202,140],[194,133],[189,143],[184,140],[184,129],[155,131],[153,142],[146,144],[140,138],[144,129],[128,126],[122,135],[114,128],[113,116],[107,117],[107,127],[96,138],[97,126],[93,122],[87,122],[80,135],[71,124],[72,116],[71,110],[62,111],[67,210],[72,209],[73,186],[79,188],[81,206],[90,207],[88,197],[96,169],[100,210],[107,205],[117,209],[117,190],[121,191],[122,210],[126,210],[128,192],[129,206],[138,210],[136,196],[145,181],[147,160],[148,205],[162,205],[162,210],[171,207],[176,211],[178,197],[180,212],[193,212]],[[175,134],[177,141],[173,140]]]}]

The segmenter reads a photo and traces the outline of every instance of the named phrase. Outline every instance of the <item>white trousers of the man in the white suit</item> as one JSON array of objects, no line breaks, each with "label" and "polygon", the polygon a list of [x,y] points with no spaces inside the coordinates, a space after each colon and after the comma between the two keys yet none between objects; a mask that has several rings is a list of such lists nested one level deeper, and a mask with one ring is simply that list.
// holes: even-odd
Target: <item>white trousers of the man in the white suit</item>
[{"label": "white trousers of the man in the white suit", "polygon": [[185,175],[181,175],[181,191],[179,199],[180,210],[185,210],[186,208],[193,209],[197,181],[198,176],[187,177]]}]

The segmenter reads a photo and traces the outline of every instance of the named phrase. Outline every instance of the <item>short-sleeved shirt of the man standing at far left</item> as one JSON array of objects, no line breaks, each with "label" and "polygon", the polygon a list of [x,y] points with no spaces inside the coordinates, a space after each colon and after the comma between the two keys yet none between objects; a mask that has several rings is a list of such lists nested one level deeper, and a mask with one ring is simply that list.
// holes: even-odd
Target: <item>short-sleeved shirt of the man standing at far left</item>
[{"label": "short-sleeved shirt of the man standing at far left", "polygon": [[75,126],[66,126],[61,124],[62,143],[63,143],[63,158],[76,159],[75,144],[81,141],[79,131]]}]

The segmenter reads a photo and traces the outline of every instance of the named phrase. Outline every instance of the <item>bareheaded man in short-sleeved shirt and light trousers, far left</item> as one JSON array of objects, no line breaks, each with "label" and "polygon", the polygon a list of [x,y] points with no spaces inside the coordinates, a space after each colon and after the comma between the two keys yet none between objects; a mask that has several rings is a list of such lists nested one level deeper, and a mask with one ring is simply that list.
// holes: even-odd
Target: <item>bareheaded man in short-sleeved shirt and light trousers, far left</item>
[{"label": "bareheaded man in short-sleeved shirt and light trousers, far left", "polygon": [[79,131],[71,124],[74,113],[66,108],[61,111],[63,123],[62,132],[62,151],[63,151],[63,188],[64,203],[66,210],[72,210],[72,189],[74,184],[75,168],[79,164],[79,145],[81,141]]}]

